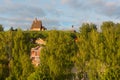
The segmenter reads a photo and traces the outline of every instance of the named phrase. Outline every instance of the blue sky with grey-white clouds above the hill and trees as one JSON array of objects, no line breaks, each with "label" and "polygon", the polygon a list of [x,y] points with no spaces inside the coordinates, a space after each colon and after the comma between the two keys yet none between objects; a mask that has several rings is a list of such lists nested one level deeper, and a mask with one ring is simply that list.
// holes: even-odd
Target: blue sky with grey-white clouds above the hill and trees
[{"label": "blue sky with grey-white clouds above the hill and trees", "polygon": [[42,20],[47,29],[79,29],[82,23],[120,22],[120,0],[0,0],[0,24],[5,30],[30,29]]}]

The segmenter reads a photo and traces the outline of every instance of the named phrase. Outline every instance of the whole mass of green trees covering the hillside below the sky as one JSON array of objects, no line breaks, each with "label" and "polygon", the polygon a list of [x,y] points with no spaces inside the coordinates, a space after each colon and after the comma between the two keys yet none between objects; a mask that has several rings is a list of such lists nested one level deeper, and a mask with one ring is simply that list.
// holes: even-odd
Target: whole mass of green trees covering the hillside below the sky
[{"label": "whole mass of green trees covering the hillside below the sky", "polygon": [[[120,23],[103,22],[100,30],[83,23],[78,32],[2,30],[0,80],[119,80]],[[34,38],[46,41],[37,67],[30,59]]]}]

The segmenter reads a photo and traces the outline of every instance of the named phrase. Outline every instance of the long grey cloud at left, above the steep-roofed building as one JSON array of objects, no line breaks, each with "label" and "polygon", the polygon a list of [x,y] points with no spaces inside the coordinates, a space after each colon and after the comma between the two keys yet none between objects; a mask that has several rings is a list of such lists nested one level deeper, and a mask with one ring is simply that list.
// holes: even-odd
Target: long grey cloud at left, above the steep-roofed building
[{"label": "long grey cloud at left, above the steep-roofed building", "polygon": [[45,16],[45,12],[38,7],[27,6],[22,4],[12,4],[5,5],[0,7],[0,14],[10,15],[10,16],[27,16],[27,17],[35,17],[35,16]]}]

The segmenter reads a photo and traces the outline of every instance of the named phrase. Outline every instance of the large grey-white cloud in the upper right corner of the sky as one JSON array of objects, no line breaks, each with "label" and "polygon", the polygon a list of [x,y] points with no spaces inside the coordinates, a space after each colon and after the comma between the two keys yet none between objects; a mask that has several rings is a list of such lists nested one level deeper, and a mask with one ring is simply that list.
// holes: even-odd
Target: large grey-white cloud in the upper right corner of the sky
[{"label": "large grey-white cloud in the upper right corner of the sky", "polygon": [[76,11],[94,11],[96,14],[108,17],[118,16],[120,14],[119,0],[61,0],[63,4],[76,9]]}]

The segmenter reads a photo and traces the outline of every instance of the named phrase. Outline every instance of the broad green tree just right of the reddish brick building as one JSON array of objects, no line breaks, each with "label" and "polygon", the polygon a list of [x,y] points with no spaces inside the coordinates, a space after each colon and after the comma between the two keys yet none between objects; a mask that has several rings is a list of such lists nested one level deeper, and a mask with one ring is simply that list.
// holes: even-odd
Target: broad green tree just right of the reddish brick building
[{"label": "broad green tree just right of the reddish brick building", "polygon": [[77,52],[77,46],[70,33],[51,31],[48,33],[47,44],[40,55],[41,65],[48,66],[49,75],[53,80],[63,80],[72,77],[74,67],[72,57]]}]

